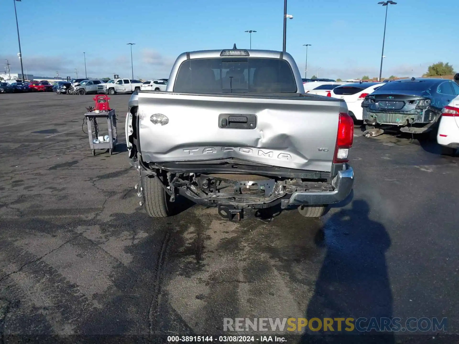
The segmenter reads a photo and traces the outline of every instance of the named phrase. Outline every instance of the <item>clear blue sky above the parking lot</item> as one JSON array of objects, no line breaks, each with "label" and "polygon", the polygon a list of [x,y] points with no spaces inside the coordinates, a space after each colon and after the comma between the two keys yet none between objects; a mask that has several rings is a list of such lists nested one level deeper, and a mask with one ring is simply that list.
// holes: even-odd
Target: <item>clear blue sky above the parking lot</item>
[{"label": "clear blue sky above the parking lot", "polygon": [[[286,50],[308,77],[379,76],[385,8],[378,0],[288,0]],[[185,51],[282,50],[283,0],[16,1],[24,73],[168,78]],[[459,70],[458,0],[397,0],[388,8],[383,77],[415,76],[438,61]],[[14,0],[0,1],[0,64],[20,72]],[[4,66],[1,66],[3,72]]]}]

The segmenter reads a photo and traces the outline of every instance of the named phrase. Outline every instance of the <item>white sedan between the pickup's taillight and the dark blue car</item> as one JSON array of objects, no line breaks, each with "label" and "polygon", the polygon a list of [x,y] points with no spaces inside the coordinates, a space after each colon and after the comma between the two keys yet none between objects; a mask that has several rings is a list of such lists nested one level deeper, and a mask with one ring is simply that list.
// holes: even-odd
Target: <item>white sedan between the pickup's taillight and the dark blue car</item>
[{"label": "white sedan between the pickup's taillight and the dark blue car", "polygon": [[365,97],[379,89],[385,83],[348,83],[335,87],[330,94],[333,98],[344,99],[349,110],[349,115],[354,120],[363,120],[362,101]]}]

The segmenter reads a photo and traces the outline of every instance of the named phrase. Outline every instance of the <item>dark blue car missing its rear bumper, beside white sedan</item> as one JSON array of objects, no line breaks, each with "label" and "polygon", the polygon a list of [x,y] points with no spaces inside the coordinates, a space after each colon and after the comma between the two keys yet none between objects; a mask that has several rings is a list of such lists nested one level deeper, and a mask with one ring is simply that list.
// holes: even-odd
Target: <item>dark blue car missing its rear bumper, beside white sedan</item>
[{"label": "dark blue car missing its rear bumper, beside white sedan", "polygon": [[442,108],[459,95],[452,80],[411,78],[394,80],[367,95],[362,102],[366,129],[397,126],[405,133],[437,128]]}]

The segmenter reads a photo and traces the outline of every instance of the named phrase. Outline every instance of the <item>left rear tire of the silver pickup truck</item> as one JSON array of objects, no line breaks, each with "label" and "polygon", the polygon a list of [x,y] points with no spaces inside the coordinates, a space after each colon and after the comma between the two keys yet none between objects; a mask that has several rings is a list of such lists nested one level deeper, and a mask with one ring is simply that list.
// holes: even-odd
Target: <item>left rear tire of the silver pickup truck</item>
[{"label": "left rear tire of the silver pickup truck", "polygon": [[151,217],[172,215],[169,195],[157,177],[142,177],[142,194],[147,214]]}]

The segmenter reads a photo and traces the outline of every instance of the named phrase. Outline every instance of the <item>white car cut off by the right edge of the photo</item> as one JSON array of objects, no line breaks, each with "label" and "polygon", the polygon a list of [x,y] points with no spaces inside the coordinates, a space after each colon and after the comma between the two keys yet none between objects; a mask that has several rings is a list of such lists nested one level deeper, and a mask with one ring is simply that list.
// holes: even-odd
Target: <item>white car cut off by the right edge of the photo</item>
[{"label": "white car cut off by the right edge of the photo", "polygon": [[459,148],[459,96],[442,110],[437,142],[442,145],[443,155],[454,155]]}]

